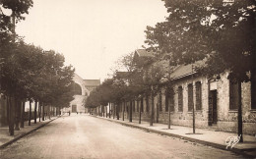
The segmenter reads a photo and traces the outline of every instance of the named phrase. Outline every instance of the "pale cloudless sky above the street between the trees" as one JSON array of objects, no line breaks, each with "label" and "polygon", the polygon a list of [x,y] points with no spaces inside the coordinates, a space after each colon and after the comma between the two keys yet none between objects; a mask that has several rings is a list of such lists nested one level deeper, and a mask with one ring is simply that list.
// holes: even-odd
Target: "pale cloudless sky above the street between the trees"
[{"label": "pale cloudless sky above the street between the trees", "polygon": [[81,78],[102,81],[118,58],[145,45],[146,27],[166,16],[161,0],[33,0],[16,31],[62,53]]}]

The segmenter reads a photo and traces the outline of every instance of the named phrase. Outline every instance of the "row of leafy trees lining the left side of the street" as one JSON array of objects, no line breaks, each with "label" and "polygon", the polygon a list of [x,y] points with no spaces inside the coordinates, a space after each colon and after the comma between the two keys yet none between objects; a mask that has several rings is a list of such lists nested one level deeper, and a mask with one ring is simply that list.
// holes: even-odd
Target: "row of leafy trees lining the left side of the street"
[{"label": "row of leafy trees lining the left side of the street", "polygon": [[29,124],[32,101],[35,102],[34,123],[37,107],[42,110],[39,115],[42,114],[44,120],[45,105],[47,108],[54,106],[58,111],[69,106],[73,100],[71,85],[74,69],[64,66],[62,54],[27,44],[15,33],[15,24],[25,19],[23,14],[29,13],[32,0],[2,0],[0,7],[12,10],[11,17],[2,10],[0,12],[0,91],[7,100],[9,132],[13,135],[15,123],[17,130],[19,122],[24,127],[24,118],[20,115],[24,116],[26,101],[30,101]]}]

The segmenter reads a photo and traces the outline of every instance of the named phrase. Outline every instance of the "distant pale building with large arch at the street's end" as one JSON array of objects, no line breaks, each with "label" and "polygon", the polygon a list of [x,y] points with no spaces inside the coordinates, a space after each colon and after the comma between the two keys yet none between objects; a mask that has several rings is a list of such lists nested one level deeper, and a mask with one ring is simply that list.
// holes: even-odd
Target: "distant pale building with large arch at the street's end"
[{"label": "distant pale building with large arch at the street's end", "polygon": [[85,101],[97,85],[100,84],[100,79],[82,79],[77,74],[74,75],[73,80],[75,81],[73,86],[74,100],[70,102],[69,108],[64,108],[64,112],[71,113],[87,113],[88,110],[85,108]]}]

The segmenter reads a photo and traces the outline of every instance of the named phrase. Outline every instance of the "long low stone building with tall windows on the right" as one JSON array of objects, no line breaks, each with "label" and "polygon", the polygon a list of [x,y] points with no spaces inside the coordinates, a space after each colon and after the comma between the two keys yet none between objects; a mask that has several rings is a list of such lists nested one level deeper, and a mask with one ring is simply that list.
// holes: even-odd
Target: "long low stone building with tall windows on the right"
[{"label": "long low stone building with tall windows on the right", "polygon": [[[137,50],[135,58],[152,57],[145,50]],[[141,60],[145,61],[145,60]],[[154,64],[150,64],[154,65]],[[158,64],[162,65],[162,64]],[[202,65],[200,64],[193,64]],[[119,116],[143,121],[150,121],[151,112],[154,112],[155,123],[168,123],[168,109],[170,109],[170,123],[178,126],[193,126],[193,107],[195,108],[196,128],[205,128],[214,131],[237,132],[238,120],[238,84],[227,79],[229,73],[226,71],[218,77],[207,78],[197,75],[192,70],[192,65],[181,65],[175,67],[168,75],[171,79],[171,88],[162,87],[154,99],[151,94],[141,94],[141,97],[130,102],[122,103]],[[162,66],[164,68],[164,64]],[[251,82],[241,83],[241,105],[243,132],[256,134],[256,103],[253,100],[255,89]],[[169,89],[172,89],[172,95]],[[255,93],[254,93],[255,94]],[[152,110],[154,102],[154,110]],[[130,106],[132,104],[132,106]],[[116,104],[112,104],[110,112],[115,113]],[[130,112],[129,108],[132,108]],[[141,110],[141,111],[140,111]]]}]

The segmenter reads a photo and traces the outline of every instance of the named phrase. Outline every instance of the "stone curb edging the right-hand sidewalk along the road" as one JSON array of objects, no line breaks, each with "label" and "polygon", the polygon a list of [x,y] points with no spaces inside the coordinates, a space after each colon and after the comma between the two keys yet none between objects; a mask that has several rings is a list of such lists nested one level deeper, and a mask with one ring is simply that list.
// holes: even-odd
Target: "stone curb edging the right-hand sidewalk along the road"
[{"label": "stone curb edging the right-hand sidewalk along the road", "polygon": [[[91,116],[91,117],[96,117],[96,116]],[[96,118],[106,120],[106,121],[109,121],[109,122],[113,122],[113,123],[117,123],[117,124],[127,126],[127,127],[131,127],[131,128],[140,129],[140,130],[147,131],[147,132],[155,132],[155,133],[159,133],[161,135],[168,135],[168,136],[172,136],[172,137],[176,137],[176,138],[180,138],[180,139],[184,139],[184,140],[188,140],[188,141],[192,141],[192,142],[197,142],[197,143],[200,143],[200,144],[204,144],[204,145],[208,145],[208,146],[212,146],[212,147],[215,147],[215,148],[226,150],[225,149],[226,146],[223,145],[223,144],[219,144],[219,143],[214,143],[214,142],[210,142],[210,141],[196,139],[196,138],[192,138],[192,137],[188,137],[188,136],[184,136],[184,135],[180,135],[180,134],[174,134],[174,133],[171,133],[171,132],[160,132],[160,131],[157,131],[157,130],[152,130],[152,129],[148,129],[148,128],[144,128],[144,127],[140,127],[140,126],[134,126],[134,125],[129,124],[129,123],[123,123],[123,122],[120,122],[120,121],[113,121],[113,120],[110,120],[110,119],[107,119],[107,118],[101,118],[101,117],[96,117]],[[255,156],[249,155],[249,154],[245,153],[243,150],[235,148],[235,147],[232,147],[232,149],[228,149],[228,150],[230,150],[232,152],[235,152],[237,154],[243,155],[246,158],[255,158]]]}]

